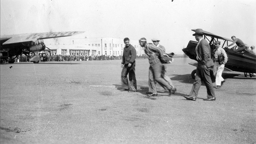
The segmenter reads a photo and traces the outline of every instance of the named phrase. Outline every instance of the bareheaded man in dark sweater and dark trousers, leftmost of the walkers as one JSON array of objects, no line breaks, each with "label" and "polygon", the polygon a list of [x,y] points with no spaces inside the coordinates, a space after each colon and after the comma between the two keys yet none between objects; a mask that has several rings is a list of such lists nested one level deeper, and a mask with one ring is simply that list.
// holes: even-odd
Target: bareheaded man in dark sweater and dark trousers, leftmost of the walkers
[{"label": "bareheaded man in dark sweater and dark trousers, leftmost of the walkers", "polygon": [[[124,47],[122,64],[121,64],[121,67],[123,67],[123,70],[121,72],[122,88],[128,89],[128,92],[136,92],[137,91],[137,82],[135,77],[136,50],[130,44],[129,38],[124,38],[124,44],[125,44],[125,47]],[[127,75],[129,79],[127,78]]]}]

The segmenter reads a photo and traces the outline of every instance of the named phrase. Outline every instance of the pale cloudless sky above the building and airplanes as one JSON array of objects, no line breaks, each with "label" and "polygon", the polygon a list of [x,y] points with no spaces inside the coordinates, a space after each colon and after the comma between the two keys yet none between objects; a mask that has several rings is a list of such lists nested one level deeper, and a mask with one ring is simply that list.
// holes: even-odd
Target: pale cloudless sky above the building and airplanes
[{"label": "pale cloudless sky above the building and airplanes", "polygon": [[1,35],[84,31],[82,36],[160,39],[183,54],[191,29],[256,45],[256,0],[0,0]]}]

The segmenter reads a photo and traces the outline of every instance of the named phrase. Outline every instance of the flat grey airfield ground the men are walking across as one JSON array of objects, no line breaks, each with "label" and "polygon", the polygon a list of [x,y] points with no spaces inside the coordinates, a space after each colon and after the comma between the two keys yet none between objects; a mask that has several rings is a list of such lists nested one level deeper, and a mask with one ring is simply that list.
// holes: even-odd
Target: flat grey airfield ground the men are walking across
[{"label": "flat grey airfield ground the men are walking across", "polygon": [[147,97],[147,59],[136,60],[136,93],[120,90],[121,60],[0,65],[0,143],[256,143],[256,77],[225,72],[216,101],[202,100],[204,85],[188,101],[188,62],[167,65],[171,97],[160,85]]}]

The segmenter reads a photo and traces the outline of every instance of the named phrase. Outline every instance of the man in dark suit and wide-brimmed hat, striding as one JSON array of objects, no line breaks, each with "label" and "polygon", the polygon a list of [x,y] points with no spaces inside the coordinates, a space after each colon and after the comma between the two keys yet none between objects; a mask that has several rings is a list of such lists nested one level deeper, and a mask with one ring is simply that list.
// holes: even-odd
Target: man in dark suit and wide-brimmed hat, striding
[{"label": "man in dark suit and wide-brimmed hat, striding", "polygon": [[205,101],[215,101],[215,93],[211,81],[210,69],[214,66],[214,62],[211,59],[211,48],[205,39],[203,39],[203,30],[196,29],[195,34],[198,44],[196,45],[196,59],[198,62],[196,68],[196,77],[193,83],[191,92],[188,96],[184,96],[187,100],[195,101],[198,95],[199,88],[202,84],[202,80],[206,85],[207,89],[207,98]]}]

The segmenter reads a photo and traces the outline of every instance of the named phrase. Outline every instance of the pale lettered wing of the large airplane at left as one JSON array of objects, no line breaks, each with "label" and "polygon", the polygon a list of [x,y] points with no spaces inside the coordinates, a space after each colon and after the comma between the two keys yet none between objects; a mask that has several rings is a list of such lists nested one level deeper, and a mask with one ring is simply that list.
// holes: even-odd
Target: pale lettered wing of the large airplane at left
[{"label": "pale lettered wing of the large airplane at left", "polygon": [[[1,43],[12,44],[12,43],[22,43],[30,42],[39,39],[50,39],[50,38],[59,38],[64,36],[73,36],[77,34],[82,34],[83,31],[69,31],[69,32],[43,32],[43,33],[33,33],[33,34],[19,34],[19,35],[8,35],[1,38]],[[4,42],[4,40],[6,40]]]}]

